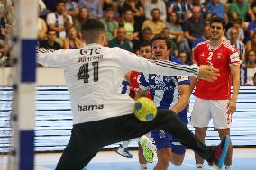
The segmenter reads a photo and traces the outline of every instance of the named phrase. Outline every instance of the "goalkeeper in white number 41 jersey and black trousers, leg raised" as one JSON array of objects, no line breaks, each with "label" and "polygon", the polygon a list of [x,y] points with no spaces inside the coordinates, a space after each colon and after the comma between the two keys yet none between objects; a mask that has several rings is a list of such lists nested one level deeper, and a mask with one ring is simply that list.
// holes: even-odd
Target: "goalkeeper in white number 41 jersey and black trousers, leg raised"
[{"label": "goalkeeper in white number 41 jersey and black trousers, leg raised", "polygon": [[123,76],[130,70],[169,76],[196,76],[215,81],[219,76],[217,69],[152,61],[138,58],[120,48],[104,47],[105,29],[96,19],[83,23],[82,34],[87,46],[81,49],[54,52],[38,49],[40,64],[64,69],[73,114],[71,137],[57,170],[81,170],[102,147],[138,138],[155,129],[172,133],[211,166],[218,169],[223,166],[229,137],[219,146],[207,147],[170,110],[158,110],[153,121],[139,121],[132,111],[133,99],[118,93]]}]

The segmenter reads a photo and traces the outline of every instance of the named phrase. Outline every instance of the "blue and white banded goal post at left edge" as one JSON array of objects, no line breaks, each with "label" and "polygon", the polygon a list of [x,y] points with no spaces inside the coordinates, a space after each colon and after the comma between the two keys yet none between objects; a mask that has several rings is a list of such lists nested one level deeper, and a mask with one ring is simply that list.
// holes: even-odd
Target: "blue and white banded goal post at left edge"
[{"label": "blue and white banded goal post at left edge", "polygon": [[37,0],[14,0],[14,170],[34,169]]}]

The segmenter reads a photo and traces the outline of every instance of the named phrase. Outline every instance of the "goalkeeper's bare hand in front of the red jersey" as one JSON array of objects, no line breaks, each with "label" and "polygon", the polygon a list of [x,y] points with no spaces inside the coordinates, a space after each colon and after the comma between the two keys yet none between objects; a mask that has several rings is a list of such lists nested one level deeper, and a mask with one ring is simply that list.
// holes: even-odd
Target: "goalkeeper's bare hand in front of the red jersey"
[{"label": "goalkeeper's bare hand in front of the red jersey", "polygon": [[220,76],[218,69],[207,65],[202,65],[199,67],[199,73],[197,78],[209,82],[214,82],[218,76]]}]

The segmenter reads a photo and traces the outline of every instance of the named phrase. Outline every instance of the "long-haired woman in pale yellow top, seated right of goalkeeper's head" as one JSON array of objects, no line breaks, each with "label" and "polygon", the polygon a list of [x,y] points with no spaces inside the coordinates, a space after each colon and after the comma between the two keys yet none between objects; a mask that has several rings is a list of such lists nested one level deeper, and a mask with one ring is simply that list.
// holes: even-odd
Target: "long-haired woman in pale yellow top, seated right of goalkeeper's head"
[{"label": "long-haired woman in pale yellow top, seated right of goalkeeper's head", "polygon": [[135,22],[133,19],[132,10],[127,9],[123,12],[122,24],[126,31],[126,34],[125,34],[126,40],[133,41],[133,40],[139,39],[139,33],[138,31],[135,30]]}]

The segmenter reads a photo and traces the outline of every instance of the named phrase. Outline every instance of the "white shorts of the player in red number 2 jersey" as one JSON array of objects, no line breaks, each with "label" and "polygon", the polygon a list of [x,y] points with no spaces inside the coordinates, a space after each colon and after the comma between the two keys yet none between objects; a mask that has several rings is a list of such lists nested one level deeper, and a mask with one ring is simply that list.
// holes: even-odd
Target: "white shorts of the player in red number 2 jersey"
[{"label": "white shorts of the player in red number 2 jersey", "polygon": [[189,124],[198,128],[208,127],[212,118],[215,129],[230,128],[231,114],[226,113],[228,102],[229,100],[204,100],[196,97]]}]

